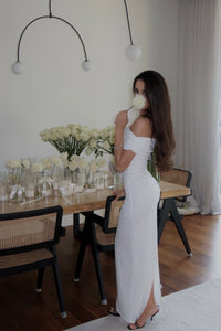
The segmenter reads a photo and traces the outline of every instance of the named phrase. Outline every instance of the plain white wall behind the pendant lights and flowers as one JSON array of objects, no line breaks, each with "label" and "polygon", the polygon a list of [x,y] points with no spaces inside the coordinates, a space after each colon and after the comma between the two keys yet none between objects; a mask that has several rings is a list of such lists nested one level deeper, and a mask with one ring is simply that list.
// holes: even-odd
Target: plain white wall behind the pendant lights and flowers
[{"label": "plain white wall behind the pendant lights and flowers", "polygon": [[92,62],[84,72],[77,36],[56,20],[40,20],[24,33],[22,75],[10,67],[23,28],[48,14],[46,0],[0,0],[0,169],[8,159],[46,157],[56,151],[40,131],[57,125],[104,128],[130,104],[133,78],[159,71],[167,79],[176,116],[179,0],[128,0],[138,62],[125,57],[129,44],[123,0],[53,0],[52,13],[82,35]]}]

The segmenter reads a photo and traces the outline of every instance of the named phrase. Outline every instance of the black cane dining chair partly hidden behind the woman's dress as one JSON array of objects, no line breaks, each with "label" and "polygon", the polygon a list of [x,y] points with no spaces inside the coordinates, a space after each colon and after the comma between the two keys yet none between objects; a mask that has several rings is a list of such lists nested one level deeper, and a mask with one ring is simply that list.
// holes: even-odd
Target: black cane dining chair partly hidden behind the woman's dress
[{"label": "black cane dining chair partly hidden behind the woman's dress", "polygon": [[93,211],[82,213],[85,216],[85,223],[82,235],[80,237],[81,245],[74,274],[74,281],[78,281],[86,246],[91,245],[98,281],[98,288],[102,298],[102,305],[107,305],[107,300],[104,290],[99,253],[114,252],[115,233],[117,228],[119,211],[124,203],[124,197],[120,197],[117,201],[115,201],[115,197],[116,195],[110,195],[107,197],[104,217],[95,214]]}]

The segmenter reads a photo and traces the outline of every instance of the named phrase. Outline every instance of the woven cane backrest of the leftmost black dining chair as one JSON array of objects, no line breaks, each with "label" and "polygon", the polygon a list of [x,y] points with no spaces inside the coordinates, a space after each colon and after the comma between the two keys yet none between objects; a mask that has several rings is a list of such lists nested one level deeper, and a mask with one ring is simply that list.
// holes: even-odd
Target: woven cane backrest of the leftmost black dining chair
[{"label": "woven cane backrest of the leftmost black dining chair", "polygon": [[0,215],[0,256],[59,243],[62,207]]}]

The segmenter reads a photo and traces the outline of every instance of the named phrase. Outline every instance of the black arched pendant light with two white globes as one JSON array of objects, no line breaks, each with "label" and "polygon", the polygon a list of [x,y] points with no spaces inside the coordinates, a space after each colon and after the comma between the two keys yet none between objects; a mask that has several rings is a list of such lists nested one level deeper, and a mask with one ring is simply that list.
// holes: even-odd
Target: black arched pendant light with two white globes
[{"label": "black arched pendant light with two white globes", "polygon": [[52,9],[51,9],[51,0],[49,0],[49,14],[48,15],[42,15],[42,17],[38,17],[35,19],[33,19],[31,22],[29,22],[27,24],[27,26],[23,29],[20,38],[19,38],[19,42],[18,42],[18,47],[17,47],[17,62],[14,62],[12,64],[12,71],[14,74],[21,74],[23,71],[24,71],[24,65],[22,64],[22,62],[20,62],[20,46],[21,46],[21,41],[22,41],[22,38],[23,38],[23,34],[24,32],[27,31],[27,29],[33,24],[34,22],[39,21],[39,20],[42,20],[42,19],[55,19],[55,20],[60,20],[62,21],[63,23],[67,24],[70,28],[72,28],[72,30],[76,33],[76,35],[78,36],[80,41],[81,41],[81,44],[82,44],[82,47],[83,47],[83,51],[84,51],[84,61],[82,63],[82,67],[84,71],[90,71],[90,61],[88,61],[88,57],[87,57],[87,53],[86,53],[86,49],[85,49],[85,45],[84,45],[84,42],[78,33],[78,31],[70,23],[67,22],[66,20],[60,18],[60,17],[55,17],[52,14]]}]

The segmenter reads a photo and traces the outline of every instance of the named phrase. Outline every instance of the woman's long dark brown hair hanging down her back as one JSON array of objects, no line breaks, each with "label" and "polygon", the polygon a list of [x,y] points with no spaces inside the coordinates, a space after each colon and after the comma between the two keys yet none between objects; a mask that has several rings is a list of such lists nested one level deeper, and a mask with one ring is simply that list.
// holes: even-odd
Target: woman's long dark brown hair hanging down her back
[{"label": "woman's long dark brown hair hanging down her back", "polygon": [[152,122],[152,137],[156,139],[154,149],[156,166],[158,171],[168,171],[172,167],[171,157],[176,143],[167,84],[159,73],[145,71],[134,79],[134,92],[135,84],[138,79],[145,83],[148,108],[143,116],[148,117]]}]

